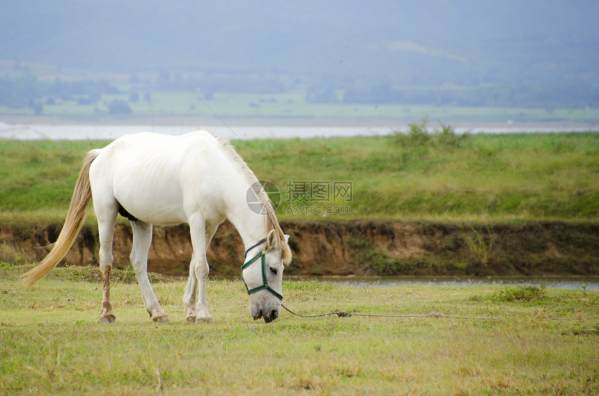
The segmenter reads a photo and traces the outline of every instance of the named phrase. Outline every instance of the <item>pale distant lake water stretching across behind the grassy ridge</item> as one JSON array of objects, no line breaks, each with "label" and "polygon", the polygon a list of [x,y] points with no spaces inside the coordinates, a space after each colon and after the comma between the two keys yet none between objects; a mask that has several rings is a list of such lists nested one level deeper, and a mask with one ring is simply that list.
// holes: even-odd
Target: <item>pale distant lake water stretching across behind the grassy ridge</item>
[{"label": "pale distant lake water stretching across behind the grassy ridge", "polygon": [[[433,123],[431,123],[433,125]],[[433,125],[435,126],[435,125]],[[126,134],[137,132],[155,132],[168,135],[182,135],[199,129],[189,125],[35,125],[35,124],[12,124],[0,122],[0,138],[15,140],[87,140],[107,139],[113,140]],[[335,137],[335,136],[373,136],[386,135],[392,130],[407,130],[407,125],[393,125],[385,127],[368,127],[368,125],[356,127],[240,127],[224,125],[206,126],[217,136],[231,139],[253,139],[253,138],[312,138],[312,137]],[[457,133],[492,133],[502,134],[509,132],[570,132],[587,131],[589,127],[572,127],[558,125],[555,127],[526,127],[522,125],[481,125],[456,127]]]}]

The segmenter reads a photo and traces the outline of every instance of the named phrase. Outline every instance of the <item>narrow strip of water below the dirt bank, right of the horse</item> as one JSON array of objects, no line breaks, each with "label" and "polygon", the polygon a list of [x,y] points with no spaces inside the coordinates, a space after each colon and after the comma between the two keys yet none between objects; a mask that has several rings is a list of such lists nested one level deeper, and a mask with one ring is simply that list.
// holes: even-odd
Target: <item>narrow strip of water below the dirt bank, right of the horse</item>
[{"label": "narrow strip of water below the dirt bank, right of the horse", "polygon": [[350,287],[392,287],[392,286],[545,286],[556,289],[599,290],[599,276],[399,276],[384,278],[335,277],[318,278],[322,282]]}]

